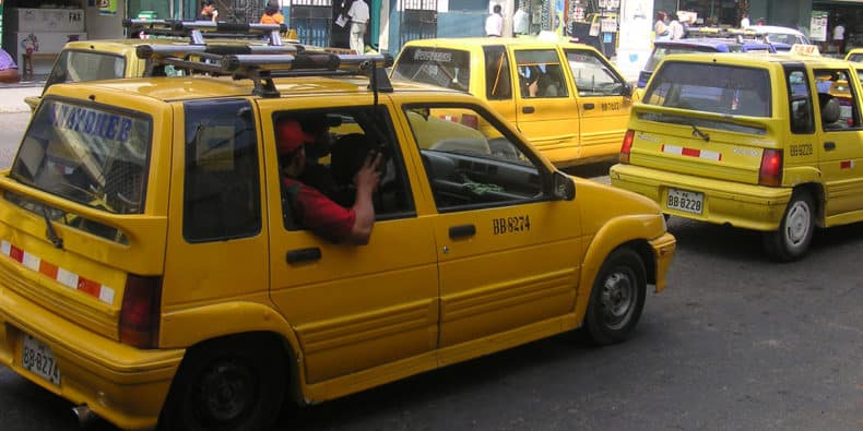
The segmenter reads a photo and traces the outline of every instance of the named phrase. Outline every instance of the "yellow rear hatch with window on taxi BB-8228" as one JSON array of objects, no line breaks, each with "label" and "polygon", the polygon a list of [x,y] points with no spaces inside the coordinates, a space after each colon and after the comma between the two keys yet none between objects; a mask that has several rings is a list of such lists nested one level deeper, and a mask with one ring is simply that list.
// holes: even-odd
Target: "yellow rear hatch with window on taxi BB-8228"
[{"label": "yellow rear hatch with window on taxi BB-8228", "polygon": [[781,172],[766,71],[666,62],[657,73],[633,107],[622,161],[749,184],[765,181],[765,163]]}]

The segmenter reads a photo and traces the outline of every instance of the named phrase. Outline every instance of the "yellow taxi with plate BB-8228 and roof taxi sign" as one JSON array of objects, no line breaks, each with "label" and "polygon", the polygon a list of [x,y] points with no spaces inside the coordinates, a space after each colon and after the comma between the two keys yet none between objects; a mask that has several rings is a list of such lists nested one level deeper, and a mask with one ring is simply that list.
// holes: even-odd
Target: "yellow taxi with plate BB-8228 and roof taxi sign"
[{"label": "yellow taxi with plate BB-8228 and roof taxi sign", "polygon": [[818,56],[670,56],[633,109],[613,185],[665,214],[764,232],[800,259],[815,227],[863,220],[854,64]]}]

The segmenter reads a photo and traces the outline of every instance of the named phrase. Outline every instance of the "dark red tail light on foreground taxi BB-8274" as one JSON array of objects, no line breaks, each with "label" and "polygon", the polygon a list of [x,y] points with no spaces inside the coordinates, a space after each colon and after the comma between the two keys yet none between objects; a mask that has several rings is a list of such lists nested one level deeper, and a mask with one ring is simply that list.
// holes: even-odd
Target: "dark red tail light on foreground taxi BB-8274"
[{"label": "dark red tail light on foreground taxi BB-8274", "polygon": [[158,347],[162,277],[129,274],[120,309],[120,343],[141,349]]}]

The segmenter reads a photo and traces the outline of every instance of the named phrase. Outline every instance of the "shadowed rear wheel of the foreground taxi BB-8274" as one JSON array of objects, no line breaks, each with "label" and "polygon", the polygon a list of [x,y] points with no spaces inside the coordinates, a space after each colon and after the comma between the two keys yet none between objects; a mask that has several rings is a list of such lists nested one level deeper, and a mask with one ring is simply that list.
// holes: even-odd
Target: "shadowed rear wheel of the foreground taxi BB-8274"
[{"label": "shadowed rear wheel of the foreground taxi BB-8274", "polygon": [[287,362],[265,335],[232,336],[189,349],[159,430],[259,431],[279,418]]}]

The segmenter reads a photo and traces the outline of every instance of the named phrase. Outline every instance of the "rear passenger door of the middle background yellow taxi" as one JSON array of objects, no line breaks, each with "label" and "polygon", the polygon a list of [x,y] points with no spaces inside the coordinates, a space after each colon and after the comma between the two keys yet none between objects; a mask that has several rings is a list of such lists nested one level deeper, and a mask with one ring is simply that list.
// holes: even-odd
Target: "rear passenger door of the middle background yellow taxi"
[{"label": "rear passenger door of the middle background yellow taxi", "polygon": [[512,48],[516,125],[552,163],[579,157],[580,123],[554,47]]}]

